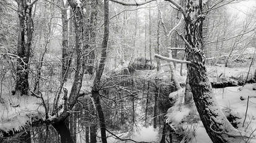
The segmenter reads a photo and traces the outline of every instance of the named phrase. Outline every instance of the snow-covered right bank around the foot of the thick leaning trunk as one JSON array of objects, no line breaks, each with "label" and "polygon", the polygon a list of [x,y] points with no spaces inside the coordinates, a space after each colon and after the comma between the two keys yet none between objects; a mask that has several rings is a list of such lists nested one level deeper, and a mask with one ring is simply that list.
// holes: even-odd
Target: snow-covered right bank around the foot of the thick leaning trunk
[{"label": "snow-covered right bank around the foot of the thick leaning trunk", "polygon": [[[241,119],[237,120],[237,123],[239,123],[238,129],[241,131],[245,131],[249,134],[253,133],[256,129],[256,91],[253,90],[255,86],[256,84],[247,84],[244,86],[244,88],[239,86],[224,89],[213,89],[214,96],[216,97],[219,106],[222,109],[228,109],[236,116],[239,116]],[[245,120],[244,127],[242,127],[242,123],[245,118],[245,110],[247,108],[248,96],[250,96],[250,98],[247,118]],[[198,114],[195,110],[195,105],[193,105],[192,107],[188,107],[187,105],[183,105],[177,102],[176,107],[169,109],[169,113],[167,113],[167,118],[169,121],[172,121],[174,127],[179,126],[183,129],[195,131],[195,134],[192,135],[192,141],[190,142],[211,143],[210,137],[206,133],[201,121],[197,121],[196,123],[189,123],[190,121],[187,120],[186,117],[192,114]],[[182,120],[184,122],[182,122]]]}]

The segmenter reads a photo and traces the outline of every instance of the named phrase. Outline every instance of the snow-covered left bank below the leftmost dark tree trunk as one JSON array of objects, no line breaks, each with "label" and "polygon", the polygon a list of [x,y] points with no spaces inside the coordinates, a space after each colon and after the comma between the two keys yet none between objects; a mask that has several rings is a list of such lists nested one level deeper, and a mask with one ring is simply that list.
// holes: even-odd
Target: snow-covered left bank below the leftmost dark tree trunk
[{"label": "snow-covered left bank below the leftmost dark tree trunk", "polygon": [[[19,131],[27,126],[32,116],[43,117],[43,106],[41,100],[32,96],[9,96],[4,98],[6,102],[0,104],[0,129]],[[1,133],[0,133],[1,136]]]}]

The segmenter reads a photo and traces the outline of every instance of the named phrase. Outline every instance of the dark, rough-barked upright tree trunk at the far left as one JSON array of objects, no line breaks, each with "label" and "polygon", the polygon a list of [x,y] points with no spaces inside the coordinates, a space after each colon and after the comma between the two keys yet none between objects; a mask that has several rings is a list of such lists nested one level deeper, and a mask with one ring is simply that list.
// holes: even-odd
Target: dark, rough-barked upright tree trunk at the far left
[{"label": "dark, rough-barked upright tree trunk at the far left", "polygon": [[29,91],[29,57],[33,35],[33,20],[31,1],[19,0],[18,15],[19,15],[19,39],[17,44],[17,76],[15,84],[15,92],[24,95]]}]

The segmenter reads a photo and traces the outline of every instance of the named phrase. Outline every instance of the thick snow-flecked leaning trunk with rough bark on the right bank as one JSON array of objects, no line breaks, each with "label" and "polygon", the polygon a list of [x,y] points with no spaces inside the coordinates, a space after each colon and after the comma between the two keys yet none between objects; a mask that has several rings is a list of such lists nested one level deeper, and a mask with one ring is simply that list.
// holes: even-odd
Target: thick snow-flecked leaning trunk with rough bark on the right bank
[{"label": "thick snow-flecked leaning trunk with rough bark on the right bank", "polygon": [[193,93],[193,100],[205,126],[206,132],[214,143],[244,142],[241,133],[224,116],[213,96],[211,84],[206,74],[205,55],[203,52],[202,0],[185,1],[185,39],[188,64],[188,78]]}]

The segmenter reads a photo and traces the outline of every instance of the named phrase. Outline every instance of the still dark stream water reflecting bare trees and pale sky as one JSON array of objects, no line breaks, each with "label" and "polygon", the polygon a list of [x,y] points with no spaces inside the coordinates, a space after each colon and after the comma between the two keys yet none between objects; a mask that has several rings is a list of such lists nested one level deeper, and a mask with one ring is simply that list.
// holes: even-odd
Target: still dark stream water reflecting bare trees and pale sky
[{"label": "still dark stream water reflecting bare trees and pale sky", "polygon": [[[155,81],[123,81],[118,84],[115,81],[114,88],[100,91],[108,142],[131,142],[120,139],[159,142],[162,134],[166,141],[169,130],[164,126],[163,113],[169,108],[167,95],[174,90],[171,83],[165,87]],[[65,123],[30,127],[17,142],[94,143],[100,142],[99,132],[92,99],[83,97]]]}]

